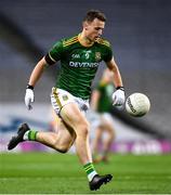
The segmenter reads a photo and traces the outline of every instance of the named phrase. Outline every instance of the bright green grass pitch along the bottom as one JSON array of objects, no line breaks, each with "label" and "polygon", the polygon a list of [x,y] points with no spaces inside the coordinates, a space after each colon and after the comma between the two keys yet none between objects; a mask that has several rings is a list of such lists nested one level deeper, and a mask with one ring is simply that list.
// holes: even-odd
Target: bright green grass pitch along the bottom
[{"label": "bright green grass pitch along the bottom", "polygon": [[77,156],[69,154],[0,154],[1,194],[163,194],[171,193],[171,155],[113,155],[95,165],[114,180],[91,192]]}]

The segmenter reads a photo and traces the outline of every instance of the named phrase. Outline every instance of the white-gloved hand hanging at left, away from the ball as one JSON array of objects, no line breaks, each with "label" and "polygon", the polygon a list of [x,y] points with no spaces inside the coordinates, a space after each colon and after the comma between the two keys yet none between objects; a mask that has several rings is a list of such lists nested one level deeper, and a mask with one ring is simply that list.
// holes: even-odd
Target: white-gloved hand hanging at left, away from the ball
[{"label": "white-gloved hand hanging at left, away from the ball", "polygon": [[34,100],[35,96],[34,96],[34,88],[29,86],[27,86],[27,89],[26,89],[26,94],[25,94],[25,104],[27,106],[27,108],[30,110],[32,109],[32,106],[31,106],[31,103],[34,103]]}]

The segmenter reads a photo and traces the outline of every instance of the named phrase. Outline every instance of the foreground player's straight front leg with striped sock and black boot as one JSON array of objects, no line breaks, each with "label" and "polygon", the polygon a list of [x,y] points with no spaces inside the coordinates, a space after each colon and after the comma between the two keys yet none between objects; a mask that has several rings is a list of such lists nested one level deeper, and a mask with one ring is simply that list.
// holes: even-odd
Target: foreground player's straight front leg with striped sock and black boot
[{"label": "foreground player's straight front leg with striped sock and black boot", "polygon": [[92,191],[100,188],[102,184],[109,182],[113,176],[98,176],[94,169],[89,144],[89,122],[76,103],[65,105],[61,116],[76,132],[76,151],[88,174],[90,188]]}]

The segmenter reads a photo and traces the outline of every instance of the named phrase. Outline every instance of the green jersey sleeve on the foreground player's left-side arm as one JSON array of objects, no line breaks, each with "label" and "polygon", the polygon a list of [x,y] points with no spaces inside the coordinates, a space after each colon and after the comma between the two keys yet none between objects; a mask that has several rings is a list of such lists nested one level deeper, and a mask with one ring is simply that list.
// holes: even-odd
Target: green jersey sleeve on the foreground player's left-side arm
[{"label": "green jersey sleeve on the foreground player's left-side arm", "polygon": [[62,54],[63,54],[63,42],[62,41],[57,41],[52,49],[50,49],[49,51],[49,56],[50,58],[55,63],[57,61],[60,61],[62,58]]}]

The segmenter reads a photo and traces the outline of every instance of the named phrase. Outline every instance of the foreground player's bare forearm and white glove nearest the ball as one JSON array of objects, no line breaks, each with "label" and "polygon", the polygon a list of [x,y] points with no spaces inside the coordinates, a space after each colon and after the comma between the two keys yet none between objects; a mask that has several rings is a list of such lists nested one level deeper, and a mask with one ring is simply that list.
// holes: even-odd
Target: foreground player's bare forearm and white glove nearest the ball
[{"label": "foreground player's bare forearm and white glove nearest the ball", "polygon": [[113,93],[114,105],[121,106],[126,101],[126,95],[119,68],[114,57],[109,62],[106,62],[106,65],[114,73],[114,84],[116,87],[116,91]]}]

